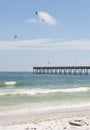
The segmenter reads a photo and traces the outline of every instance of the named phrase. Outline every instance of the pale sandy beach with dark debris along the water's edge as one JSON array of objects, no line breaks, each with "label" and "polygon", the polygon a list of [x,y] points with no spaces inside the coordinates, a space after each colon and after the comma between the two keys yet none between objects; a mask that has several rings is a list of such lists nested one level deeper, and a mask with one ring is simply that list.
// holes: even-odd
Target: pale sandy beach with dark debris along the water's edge
[{"label": "pale sandy beach with dark debris along the water's edge", "polygon": [[90,130],[90,108],[0,116],[0,130]]}]

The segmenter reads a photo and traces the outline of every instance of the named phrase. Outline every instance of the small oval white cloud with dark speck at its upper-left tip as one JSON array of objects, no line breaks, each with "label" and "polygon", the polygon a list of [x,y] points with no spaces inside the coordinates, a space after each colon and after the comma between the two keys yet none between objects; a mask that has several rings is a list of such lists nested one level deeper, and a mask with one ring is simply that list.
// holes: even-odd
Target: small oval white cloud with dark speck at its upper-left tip
[{"label": "small oval white cloud with dark speck at its upper-left tip", "polygon": [[36,14],[38,20],[41,21],[41,22],[46,22],[46,23],[52,24],[52,25],[56,24],[56,19],[53,18],[47,12],[41,12],[41,11],[38,12],[38,11],[36,11],[35,14]]}]

